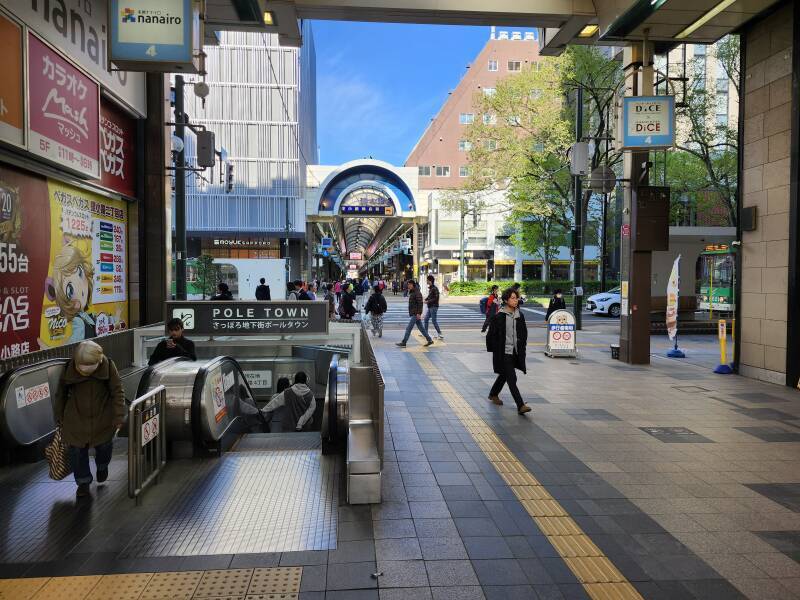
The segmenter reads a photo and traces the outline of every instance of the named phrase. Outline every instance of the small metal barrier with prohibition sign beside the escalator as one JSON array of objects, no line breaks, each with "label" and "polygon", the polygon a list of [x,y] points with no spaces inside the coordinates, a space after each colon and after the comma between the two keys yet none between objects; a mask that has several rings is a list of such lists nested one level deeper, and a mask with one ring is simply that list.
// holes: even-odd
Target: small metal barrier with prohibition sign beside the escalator
[{"label": "small metal barrier with prohibition sign beside the escalator", "polygon": [[167,390],[163,385],[131,402],[128,409],[128,496],[158,483],[167,464]]}]

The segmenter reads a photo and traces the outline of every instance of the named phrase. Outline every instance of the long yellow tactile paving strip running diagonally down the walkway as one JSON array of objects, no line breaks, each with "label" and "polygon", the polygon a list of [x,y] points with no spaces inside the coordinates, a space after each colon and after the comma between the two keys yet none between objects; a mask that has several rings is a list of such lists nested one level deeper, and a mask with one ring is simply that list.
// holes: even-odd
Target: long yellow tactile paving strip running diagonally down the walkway
[{"label": "long yellow tactile paving strip running diagonally down the walkway", "polygon": [[438,381],[441,373],[427,356],[415,356],[423,372],[437,381],[434,387],[455,410],[461,424],[511,487],[525,510],[547,536],[566,565],[594,600],[642,600],[622,573],[581,530],[561,504],[554,500],[525,466],[494,434],[486,422],[449,384]]}]

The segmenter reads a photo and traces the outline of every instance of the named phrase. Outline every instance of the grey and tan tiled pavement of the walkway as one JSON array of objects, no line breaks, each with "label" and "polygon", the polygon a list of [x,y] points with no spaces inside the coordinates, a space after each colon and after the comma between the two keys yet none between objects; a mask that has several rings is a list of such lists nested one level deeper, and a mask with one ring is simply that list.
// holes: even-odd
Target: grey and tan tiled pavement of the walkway
[{"label": "grey and tan tiled pavement of the walkway", "polygon": [[[0,565],[0,576],[302,566],[305,600],[618,598],[579,581],[569,548],[518,499],[484,434],[473,435],[490,431],[640,597],[800,597],[796,391],[666,359],[631,367],[587,346],[577,360],[529,357],[520,383],[534,411],[519,417],[509,399],[503,407],[485,400],[493,375],[479,333],[447,332],[446,343],[426,350],[417,339],[406,350],[394,341],[376,340],[386,380],[384,502],[340,501],[335,548],[121,558],[126,535],[215,468],[176,463],[175,476],[118,523],[59,523],[69,502],[54,499],[33,526],[59,532],[62,553]],[[466,408],[454,412],[459,402]],[[0,472],[0,497],[19,491],[20,473],[32,468],[40,467]],[[117,504],[124,490],[114,485],[96,506],[129,506]],[[22,500],[4,516],[18,536]],[[13,542],[6,536],[5,555]]]}]

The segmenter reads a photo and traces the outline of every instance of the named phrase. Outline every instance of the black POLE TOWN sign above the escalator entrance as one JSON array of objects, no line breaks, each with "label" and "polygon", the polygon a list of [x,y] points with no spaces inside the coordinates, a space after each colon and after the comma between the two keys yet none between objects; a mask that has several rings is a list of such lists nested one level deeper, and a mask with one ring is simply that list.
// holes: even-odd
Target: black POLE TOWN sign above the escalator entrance
[{"label": "black POLE TOWN sign above the escalator entrance", "polygon": [[187,335],[297,335],[328,333],[328,303],[166,302],[164,322],[183,321]]}]

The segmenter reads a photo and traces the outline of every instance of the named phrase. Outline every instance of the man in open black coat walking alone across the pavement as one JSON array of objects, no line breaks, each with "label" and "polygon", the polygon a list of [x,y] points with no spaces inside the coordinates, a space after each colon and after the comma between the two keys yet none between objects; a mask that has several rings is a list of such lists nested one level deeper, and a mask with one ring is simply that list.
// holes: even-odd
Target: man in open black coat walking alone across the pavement
[{"label": "man in open black coat walking alone across the pavement", "polygon": [[489,333],[486,334],[486,351],[492,353],[492,367],[497,373],[492,389],[489,390],[489,401],[502,406],[500,391],[508,384],[508,389],[517,412],[524,415],[531,411],[525,404],[522,394],[517,387],[517,369],[526,373],[525,349],[528,344],[528,326],[525,317],[519,310],[519,295],[514,288],[503,292],[503,306],[489,323]]}]

